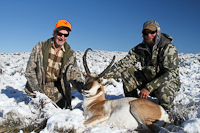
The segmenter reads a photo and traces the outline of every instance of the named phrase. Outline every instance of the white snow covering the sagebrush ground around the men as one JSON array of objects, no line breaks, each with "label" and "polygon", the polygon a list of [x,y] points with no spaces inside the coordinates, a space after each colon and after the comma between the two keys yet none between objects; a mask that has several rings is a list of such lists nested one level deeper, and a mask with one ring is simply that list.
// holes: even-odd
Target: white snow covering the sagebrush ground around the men
[{"label": "white snow covering the sagebrush ground around the men", "polygon": [[[77,63],[81,71],[85,71],[82,62],[83,52],[76,51]],[[91,72],[101,73],[115,55],[115,62],[122,59],[127,52],[108,52],[94,50],[87,55],[88,67]],[[76,90],[72,91],[73,110],[56,108],[44,94],[37,92],[36,98],[31,99],[25,92],[26,78],[24,73],[30,53],[0,53],[0,124],[22,121],[24,126],[35,125],[46,121],[41,133],[76,130],[87,133],[124,133],[129,129],[117,127],[96,126],[84,127],[83,97]],[[167,130],[176,133],[200,133],[200,54],[179,54],[181,89],[178,92],[173,108],[184,117],[177,125],[166,125],[160,133]],[[84,78],[83,78],[84,80]],[[104,86],[107,99],[124,97],[122,82],[111,79],[113,85]],[[154,98],[148,97],[150,100]],[[135,131],[136,132],[136,131]],[[21,130],[20,133],[23,133]]]}]

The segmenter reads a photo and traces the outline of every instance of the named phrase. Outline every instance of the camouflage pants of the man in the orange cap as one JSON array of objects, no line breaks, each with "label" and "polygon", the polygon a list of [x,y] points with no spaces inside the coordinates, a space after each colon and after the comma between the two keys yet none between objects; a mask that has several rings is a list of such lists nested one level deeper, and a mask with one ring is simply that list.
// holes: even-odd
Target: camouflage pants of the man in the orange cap
[{"label": "camouflage pants of the man in the orange cap", "polygon": [[53,102],[57,103],[62,99],[61,86],[55,86],[54,82],[48,82],[44,85],[41,93],[46,94]]}]

